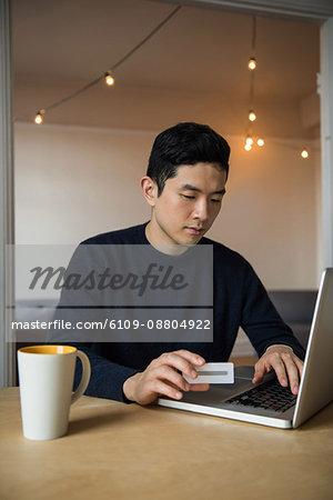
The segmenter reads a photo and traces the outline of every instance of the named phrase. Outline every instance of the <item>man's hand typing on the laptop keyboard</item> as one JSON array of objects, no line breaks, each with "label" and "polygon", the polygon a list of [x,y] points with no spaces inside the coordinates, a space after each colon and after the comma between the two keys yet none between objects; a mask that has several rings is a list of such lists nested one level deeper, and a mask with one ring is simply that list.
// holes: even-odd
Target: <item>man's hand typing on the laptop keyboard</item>
[{"label": "man's hand typing on the laptop keyboard", "polygon": [[287,380],[293,394],[299,393],[300,379],[303,372],[303,361],[296,357],[289,346],[270,346],[254,367],[253,383],[258,383],[269,371],[275,370],[279,382],[287,387]]}]

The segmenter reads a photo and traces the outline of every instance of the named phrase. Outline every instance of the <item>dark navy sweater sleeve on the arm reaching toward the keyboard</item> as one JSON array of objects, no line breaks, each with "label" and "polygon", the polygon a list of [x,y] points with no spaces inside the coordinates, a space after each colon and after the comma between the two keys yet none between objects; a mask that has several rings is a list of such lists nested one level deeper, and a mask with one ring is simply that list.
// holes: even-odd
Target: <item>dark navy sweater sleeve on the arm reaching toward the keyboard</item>
[{"label": "dark navy sweater sleeve on the arm reaching toward the keyboard", "polygon": [[303,347],[280,317],[249,262],[246,262],[244,273],[241,327],[259,357],[265,352],[268,347],[280,343],[291,347],[299,358],[304,359]]}]

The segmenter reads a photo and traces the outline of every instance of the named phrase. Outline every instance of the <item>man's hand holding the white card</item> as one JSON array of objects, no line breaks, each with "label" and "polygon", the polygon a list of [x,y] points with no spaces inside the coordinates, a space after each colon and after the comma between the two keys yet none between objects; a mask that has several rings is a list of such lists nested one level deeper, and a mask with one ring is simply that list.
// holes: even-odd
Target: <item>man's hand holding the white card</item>
[{"label": "man's hand holding the white card", "polygon": [[188,383],[178,370],[192,379],[198,377],[195,367],[202,367],[205,360],[184,349],[164,352],[142,372],[127,379],[122,390],[127,399],[139,404],[149,404],[160,396],[182,399],[182,391],[206,391],[208,383]]}]

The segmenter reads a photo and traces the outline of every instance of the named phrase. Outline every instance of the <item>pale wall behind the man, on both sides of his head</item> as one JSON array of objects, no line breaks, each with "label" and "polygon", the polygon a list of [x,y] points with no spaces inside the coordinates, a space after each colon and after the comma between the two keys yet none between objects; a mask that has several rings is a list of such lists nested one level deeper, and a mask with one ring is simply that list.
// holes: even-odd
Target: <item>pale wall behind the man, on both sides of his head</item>
[{"label": "pale wall behind the man, on both sides of his head", "polygon": [[[17,123],[17,243],[78,243],[148,220],[139,181],[157,133]],[[317,287],[319,152],[302,160],[302,143],[269,138],[245,152],[243,138],[226,139],[228,196],[208,236],[244,254],[269,289]]]}]

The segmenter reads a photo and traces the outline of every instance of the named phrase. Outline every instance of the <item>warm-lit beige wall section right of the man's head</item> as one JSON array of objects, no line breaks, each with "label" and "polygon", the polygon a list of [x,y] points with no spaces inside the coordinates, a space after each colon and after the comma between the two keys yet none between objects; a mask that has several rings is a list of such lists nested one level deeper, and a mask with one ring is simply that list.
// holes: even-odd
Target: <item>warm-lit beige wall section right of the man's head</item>
[{"label": "warm-lit beige wall section right of the man's head", "polygon": [[319,152],[312,148],[303,160],[304,144],[296,140],[266,138],[265,147],[251,152],[243,138],[230,143],[228,196],[210,236],[243,253],[270,289],[316,288]]}]

